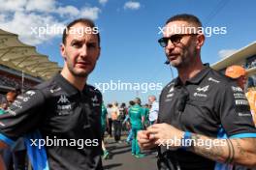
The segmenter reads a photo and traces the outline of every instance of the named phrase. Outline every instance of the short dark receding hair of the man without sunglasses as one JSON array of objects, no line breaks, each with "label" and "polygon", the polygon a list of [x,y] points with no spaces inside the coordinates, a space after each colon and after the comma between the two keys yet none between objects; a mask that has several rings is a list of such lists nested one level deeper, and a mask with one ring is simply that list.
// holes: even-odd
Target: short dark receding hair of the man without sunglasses
[{"label": "short dark receding hair of the man without sunglasses", "polygon": [[[75,25],[76,23],[83,23],[84,25],[89,26],[90,28],[94,28],[95,24],[91,19],[88,18],[79,18],[76,20],[73,20],[72,22],[70,22],[67,27],[64,29],[63,34],[62,34],[62,43],[66,44],[66,40],[67,40],[67,33],[69,31],[69,29]],[[100,33],[98,32],[97,34],[97,38],[98,38],[98,42],[99,42],[99,46],[100,46],[100,42],[101,42],[101,38],[100,38]]]}]

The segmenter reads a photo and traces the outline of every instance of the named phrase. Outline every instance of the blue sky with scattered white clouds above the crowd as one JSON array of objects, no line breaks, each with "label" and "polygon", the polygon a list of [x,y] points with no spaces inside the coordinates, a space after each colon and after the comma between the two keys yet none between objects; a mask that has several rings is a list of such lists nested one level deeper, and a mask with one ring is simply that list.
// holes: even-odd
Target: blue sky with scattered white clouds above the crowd
[{"label": "blue sky with scattered white clouds above the crowd", "polygon": [[[256,40],[254,0],[0,0],[0,4],[0,28],[16,33],[21,42],[36,46],[60,67],[61,34],[49,30],[76,18],[93,19],[102,51],[87,83],[102,91],[106,103],[158,98],[173,79],[172,71],[176,77],[176,69],[164,65],[166,56],[157,42],[162,37],[159,27],[175,14],[201,19],[208,35],[202,59],[210,65]],[[213,28],[224,28],[225,34],[210,34]]]}]

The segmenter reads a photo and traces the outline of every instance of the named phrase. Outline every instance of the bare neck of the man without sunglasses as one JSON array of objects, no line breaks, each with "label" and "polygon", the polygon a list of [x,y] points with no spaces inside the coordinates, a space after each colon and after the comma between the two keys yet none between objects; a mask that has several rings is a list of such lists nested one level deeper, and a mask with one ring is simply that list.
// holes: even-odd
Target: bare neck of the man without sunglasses
[{"label": "bare neck of the man without sunglasses", "polygon": [[60,74],[77,89],[83,90],[87,77],[74,76],[70,71],[66,70],[62,70]]}]

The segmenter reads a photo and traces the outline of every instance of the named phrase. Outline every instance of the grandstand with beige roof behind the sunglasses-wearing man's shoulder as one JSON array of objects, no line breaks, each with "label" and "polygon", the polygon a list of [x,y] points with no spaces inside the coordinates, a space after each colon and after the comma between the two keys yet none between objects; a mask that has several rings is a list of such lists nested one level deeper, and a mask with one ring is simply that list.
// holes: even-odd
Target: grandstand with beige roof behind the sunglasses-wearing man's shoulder
[{"label": "grandstand with beige roof behind the sunglasses-wearing man's shoulder", "polygon": [[256,42],[252,42],[242,47],[234,54],[223,58],[214,63],[211,68],[216,71],[225,72],[226,68],[231,65],[240,65],[247,71],[249,80],[256,85]]}]

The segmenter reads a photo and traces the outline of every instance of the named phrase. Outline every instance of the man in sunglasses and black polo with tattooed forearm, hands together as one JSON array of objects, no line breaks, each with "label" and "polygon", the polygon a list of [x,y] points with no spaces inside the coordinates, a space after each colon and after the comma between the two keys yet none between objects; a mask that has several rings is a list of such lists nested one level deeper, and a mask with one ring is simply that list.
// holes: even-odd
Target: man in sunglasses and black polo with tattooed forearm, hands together
[{"label": "man in sunglasses and black polo with tattooed forearm, hands together", "polygon": [[159,169],[232,169],[256,166],[256,128],[236,82],[201,60],[201,21],[177,14],[166,22],[165,49],[178,76],[160,96],[158,124],[138,134],[143,149],[158,147]]}]

